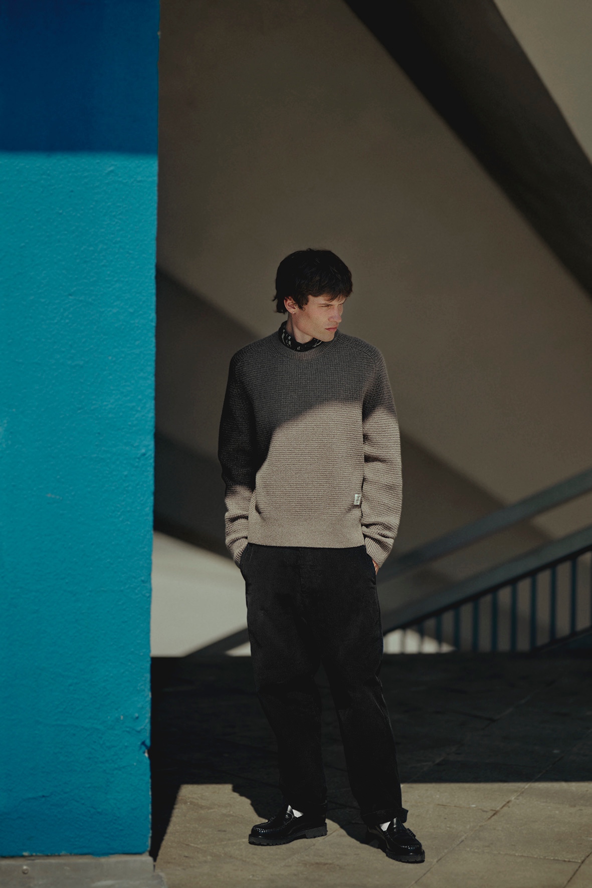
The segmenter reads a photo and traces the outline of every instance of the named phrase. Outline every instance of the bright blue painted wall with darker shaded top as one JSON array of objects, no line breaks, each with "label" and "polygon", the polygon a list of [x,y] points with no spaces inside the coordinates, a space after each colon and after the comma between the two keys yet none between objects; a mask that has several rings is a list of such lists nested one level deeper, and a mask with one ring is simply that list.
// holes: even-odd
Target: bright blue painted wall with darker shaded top
[{"label": "bright blue painted wall with darker shaded top", "polygon": [[4,856],[148,848],[157,30],[0,7]]}]

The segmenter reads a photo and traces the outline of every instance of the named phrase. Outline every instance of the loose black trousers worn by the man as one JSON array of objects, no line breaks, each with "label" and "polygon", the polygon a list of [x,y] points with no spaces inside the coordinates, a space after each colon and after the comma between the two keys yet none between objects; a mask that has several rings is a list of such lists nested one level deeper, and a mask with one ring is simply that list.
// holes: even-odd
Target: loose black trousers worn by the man
[{"label": "loose black trousers worn by the man", "polygon": [[372,559],[348,549],[261,546],[241,559],[255,686],[277,738],[280,789],[297,811],[326,806],[321,698],[329,679],[349,783],[368,825],[406,820],[379,671],[380,607]]}]

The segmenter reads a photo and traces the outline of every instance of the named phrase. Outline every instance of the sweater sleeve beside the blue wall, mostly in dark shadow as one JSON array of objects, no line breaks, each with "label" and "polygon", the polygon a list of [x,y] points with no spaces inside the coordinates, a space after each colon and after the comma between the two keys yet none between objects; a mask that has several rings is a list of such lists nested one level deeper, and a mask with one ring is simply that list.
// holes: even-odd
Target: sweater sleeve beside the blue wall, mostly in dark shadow
[{"label": "sweater sleeve beside the blue wall, mostly in dark shadow", "polygon": [[241,383],[236,355],[230,361],[220,419],[218,458],[226,485],[226,544],[236,564],[248,540],[249,505],[255,488],[255,432],[251,400]]}]

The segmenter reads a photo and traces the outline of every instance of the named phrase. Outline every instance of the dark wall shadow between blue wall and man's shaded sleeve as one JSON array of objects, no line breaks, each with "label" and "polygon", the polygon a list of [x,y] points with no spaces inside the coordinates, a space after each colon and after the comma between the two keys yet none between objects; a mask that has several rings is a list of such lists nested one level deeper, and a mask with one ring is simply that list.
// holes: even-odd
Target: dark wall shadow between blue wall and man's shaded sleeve
[{"label": "dark wall shadow between blue wall and man's shaded sleeve", "polygon": [[255,338],[157,272],[155,527],[222,555],[228,551],[218,425],[229,361]]}]

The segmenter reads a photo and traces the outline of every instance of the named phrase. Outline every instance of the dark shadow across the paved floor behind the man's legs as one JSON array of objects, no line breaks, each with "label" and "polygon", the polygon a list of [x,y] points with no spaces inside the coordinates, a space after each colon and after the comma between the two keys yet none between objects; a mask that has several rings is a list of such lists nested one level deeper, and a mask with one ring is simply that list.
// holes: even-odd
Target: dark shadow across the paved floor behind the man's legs
[{"label": "dark shadow across the paved floor behind the man's legs", "polygon": [[[404,783],[592,781],[590,652],[390,654],[380,678]],[[323,673],[318,681],[329,817],[362,841]],[[249,657],[154,658],[152,690],[153,858],[184,784],[231,784],[261,820],[276,813],[275,741]]]}]

